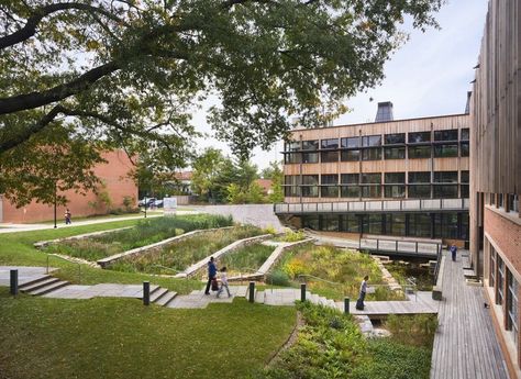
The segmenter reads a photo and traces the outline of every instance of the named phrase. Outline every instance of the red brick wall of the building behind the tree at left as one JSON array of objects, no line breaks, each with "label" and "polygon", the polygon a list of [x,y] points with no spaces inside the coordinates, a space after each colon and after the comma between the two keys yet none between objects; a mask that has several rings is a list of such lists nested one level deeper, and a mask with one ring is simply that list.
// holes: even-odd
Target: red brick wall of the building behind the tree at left
[{"label": "red brick wall of the building behind the tree at left", "polygon": [[[121,151],[103,153],[103,158],[108,160],[107,164],[97,165],[93,171],[106,185],[102,189],[109,193],[112,201],[112,209],[124,208],[123,198],[129,196],[134,199],[134,205],[137,199],[137,186],[135,182],[126,178],[133,165],[126,154]],[[100,203],[97,196],[92,192],[86,196],[76,193],[74,191],[65,192],[69,200],[67,207],[57,207],[58,220],[64,220],[65,209],[68,208],[75,218],[87,216],[92,214],[106,213],[106,207],[92,208],[89,202]],[[0,200],[1,201],[1,200]],[[32,202],[29,205],[16,209],[8,200],[3,200],[3,222],[5,223],[31,223],[53,220],[54,208],[47,204]]]}]

